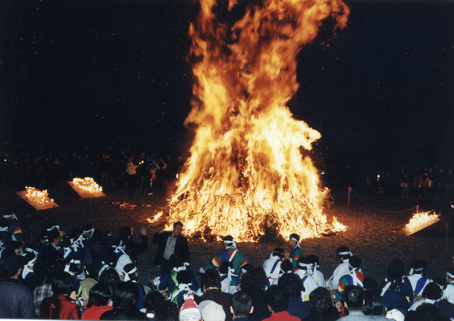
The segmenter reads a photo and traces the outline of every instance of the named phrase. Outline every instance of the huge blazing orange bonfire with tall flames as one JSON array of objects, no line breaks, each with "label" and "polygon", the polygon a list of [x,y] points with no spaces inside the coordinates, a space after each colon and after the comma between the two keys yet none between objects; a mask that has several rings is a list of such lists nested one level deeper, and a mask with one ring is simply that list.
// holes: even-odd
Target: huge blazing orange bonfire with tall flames
[{"label": "huge blazing orange bonfire with tall flames", "polygon": [[[232,13],[236,5],[223,9]],[[215,0],[201,0],[189,28],[197,81],[185,123],[196,129],[169,226],[179,220],[188,234],[239,240],[255,240],[266,228],[285,238],[345,230],[322,214],[317,169],[300,152],[320,133],[292,118],[286,103],[298,89],[297,53],[330,15],[344,28],[348,7],[340,0],[263,0],[231,24],[214,12],[222,12]]]}]

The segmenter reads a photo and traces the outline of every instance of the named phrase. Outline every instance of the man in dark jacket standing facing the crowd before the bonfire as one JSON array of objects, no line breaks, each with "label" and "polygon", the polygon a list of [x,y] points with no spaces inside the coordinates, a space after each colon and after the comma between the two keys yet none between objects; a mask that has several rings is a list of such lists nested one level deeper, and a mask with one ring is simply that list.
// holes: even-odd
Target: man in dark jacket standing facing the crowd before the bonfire
[{"label": "man in dark jacket standing facing the crowd before the bonfire", "polygon": [[184,262],[190,262],[188,240],[180,235],[183,223],[173,223],[173,231],[160,229],[153,235],[153,243],[158,244],[158,251],[154,259],[154,265],[161,265],[161,275],[164,275],[170,268],[168,265],[169,257],[175,253],[180,254]]}]

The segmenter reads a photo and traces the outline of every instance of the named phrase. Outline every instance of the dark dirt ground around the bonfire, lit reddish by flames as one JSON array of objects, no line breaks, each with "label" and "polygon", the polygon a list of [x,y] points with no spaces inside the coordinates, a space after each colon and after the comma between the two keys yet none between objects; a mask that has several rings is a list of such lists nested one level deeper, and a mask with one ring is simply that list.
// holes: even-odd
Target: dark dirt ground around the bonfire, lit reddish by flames
[{"label": "dark dirt ground around the bonfire, lit reddish by flames", "polygon": [[[49,190],[49,197],[53,198],[59,207],[45,210],[35,210],[10,188],[2,189],[2,202],[10,203],[22,223],[25,240],[35,242],[36,235],[49,222],[57,222],[64,231],[70,232],[74,227],[87,223],[102,230],[111,229],[114,236],[122,226],[132,226],[138,232],[140,227],[147,228],[149,238],[148,251],[139,255],[139,281],[148,284],[151,277],[159,276],[159,267],[153,266],[157,246],[153,245],[153,233],[165,224],[165,218],[158,225],[153,226],[147,219],[153,218],[159,208],[167,205],[164,192],[151,190],[142,192],[136,190],[122,190],[119,188],[104,189],[105,197],[81,199],[69,185],[60,190]],[[401,213],[387,213],[380,211],[398,212],[419,205],[420,211],[433,209],[430,201],[401,199],[397,196],[378,194],[351,193],[350,208],[347,207],[347,190],[332,191],[334,204],[324,213],[331,222],[335,215],[339,222],[347,225],[346,232],[336,235],[304,239],[301,248],[305,254],[316,253],[320,258],[320,270],[325,277],[330,277],[338,260],[335,256],[336,248],[347,245],[350,251],[362,259],[362,270],[366,276],[373,277],[381,282],[385,277],[388,263],[392,258],[400,258],[405,264],[406,271],[410,270],[411,262],[424,258],[428,263],[428,277],[443,277],[454,253],[454,238],[447,237],[450,229],[450,215],[432,226],[406,236],[401,230],[415,213],[416,209]],[[128,202],[135,204],[133,209],[120,209],[113,202]],[[367,202],[368,204],[365,204]],[[142,207],[142,205],[151,205]],[[376,209],[375,209],[376,208]],[[295,231],[298,233],[298,231]],[[139,240],[138,236],[137,240]],[[203,242],[188,237],[191,250],[191,266],[193,272],[207,264],[212,257],[222,249],[221,242]],[[286,248],[286,242],[239,242],[238,249],[246,254],[249,263],[262,265],[269,258],[275,247]],[[200,281],[200,280],[198,280]]]}]

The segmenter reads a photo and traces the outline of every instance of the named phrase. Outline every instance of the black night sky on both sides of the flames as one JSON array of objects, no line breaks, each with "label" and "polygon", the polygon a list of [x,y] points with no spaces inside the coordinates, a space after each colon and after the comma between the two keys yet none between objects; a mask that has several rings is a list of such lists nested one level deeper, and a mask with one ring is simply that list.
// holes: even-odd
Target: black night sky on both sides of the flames
[{"label": "black night sky on both sides of the flames", "polygon": [[[335,36],[328,21],[301,51],[288,103],[321,132],[317,163],[452,167],[454,1],[345,2],[347,28]],[[2,1],[2,150],[188,150],[185,58],[198,10],[197,1]]]}]

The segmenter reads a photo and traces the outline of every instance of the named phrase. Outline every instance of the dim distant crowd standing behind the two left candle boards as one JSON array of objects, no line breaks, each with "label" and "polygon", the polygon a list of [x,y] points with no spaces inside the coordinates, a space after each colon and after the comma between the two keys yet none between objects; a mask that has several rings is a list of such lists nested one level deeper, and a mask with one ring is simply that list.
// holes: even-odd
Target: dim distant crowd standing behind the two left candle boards
[{"label": "dim distant crowd standing behind the two left candle boards", "polygon": [[2,159],[1,180],[18,187],[61,188],[75,177],[92,177],[102,187],[160,188],[176,179],[183,157],[131,154],[123,149],[100,153],[62,152],[11,155]]}]

